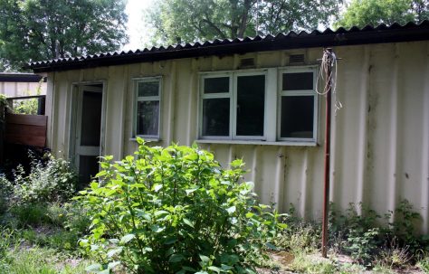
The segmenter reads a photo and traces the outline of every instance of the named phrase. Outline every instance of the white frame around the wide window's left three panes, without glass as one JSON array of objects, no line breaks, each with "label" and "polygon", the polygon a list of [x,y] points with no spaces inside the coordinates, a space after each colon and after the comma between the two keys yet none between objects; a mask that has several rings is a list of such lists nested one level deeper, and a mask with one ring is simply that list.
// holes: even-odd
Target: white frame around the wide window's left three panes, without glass
[{"label": "white frame around the wide window's left three panes, without glass", "polygon": [[[268,97],[268,75],[266,69],[264,70],[246,70],[246,71],[222,71],[222,72],[202,72],[200,73],[200,99],[199,99],[199,111],[198,111],[198,137],[200,139],[207,140],[266,140],[267,135],[267,97]],[[263,119],[263,136],[238,136],[236,134],[236,123],[237,123],[237,82],[238,77],[241,76],[265,76],[265,99],[264,99],[264,119]],[[224,93],[204,93],[205,90],[205,79],[208,78],[229,78],[229,90]],[[228,136],[204,136],[203,135],[203,100],[204,99],[230,99],[230,118],[229,118],[229,135]]]}]

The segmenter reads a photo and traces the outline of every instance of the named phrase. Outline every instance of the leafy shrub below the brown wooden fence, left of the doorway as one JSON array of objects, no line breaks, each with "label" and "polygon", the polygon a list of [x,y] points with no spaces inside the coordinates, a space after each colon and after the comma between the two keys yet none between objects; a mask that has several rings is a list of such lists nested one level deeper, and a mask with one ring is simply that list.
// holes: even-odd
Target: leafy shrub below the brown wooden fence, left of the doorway
[{"label": "leafy shrub below the brown wooden fence, left of the doorway", "polygon": [[31,171],[26,175],[19,165],[14,172],[13,203],[62,203],[76,191],[77,176],[69,162],[47,155],[43,163],[33,158]]}]

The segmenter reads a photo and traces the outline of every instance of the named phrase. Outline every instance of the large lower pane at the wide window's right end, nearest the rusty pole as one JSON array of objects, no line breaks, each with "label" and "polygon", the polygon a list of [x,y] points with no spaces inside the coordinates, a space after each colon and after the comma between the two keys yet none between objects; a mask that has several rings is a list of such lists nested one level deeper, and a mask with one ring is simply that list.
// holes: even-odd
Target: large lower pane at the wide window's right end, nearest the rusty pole
[{"label": "large lower pane at the wide window's right end, nearest the rusty pole", "polygon": [[281,137],[312,138],[313,96],[281,97]]}]

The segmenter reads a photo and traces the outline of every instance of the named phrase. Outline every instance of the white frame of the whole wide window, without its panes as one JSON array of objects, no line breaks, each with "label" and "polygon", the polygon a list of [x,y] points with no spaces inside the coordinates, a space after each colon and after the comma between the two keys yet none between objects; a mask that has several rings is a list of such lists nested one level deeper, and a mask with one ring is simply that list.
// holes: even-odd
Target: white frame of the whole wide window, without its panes
[{"label": "white frame of the whole wide window, without its panes", "polygon": [[[249,144],[275,146],[317,146],[319,134],[319,96],[316,93],[318,65],[293,67],[277,67],[268,69],[237,70],[237,71],[204,71],[199,72],[198,92],[198,143],[212,144]],[[313,73],[313,90],[282,90],[282,73]],[[236,135],[236,103],[237,77],[265,75],[265,106],[263,137]],[[224,93],[204,93],[206,78],[229,77],[229,91]],[[281,97],[282,96],[314,96],[313,136],[311,138],[281,137]],[[229,136],[203,136],[203,99],[230,99]]]}]

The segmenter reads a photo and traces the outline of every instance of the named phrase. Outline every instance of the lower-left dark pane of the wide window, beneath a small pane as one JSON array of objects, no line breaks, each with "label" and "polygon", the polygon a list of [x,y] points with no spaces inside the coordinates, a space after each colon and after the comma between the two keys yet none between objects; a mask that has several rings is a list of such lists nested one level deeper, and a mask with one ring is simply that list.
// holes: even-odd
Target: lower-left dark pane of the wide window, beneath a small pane
[{"label": "lower-left dark pane of the wide window, beneath a small pane", "polygon": [[203,136],[229,136],[229,98],[203,100]]}]

